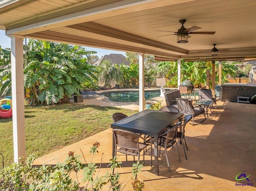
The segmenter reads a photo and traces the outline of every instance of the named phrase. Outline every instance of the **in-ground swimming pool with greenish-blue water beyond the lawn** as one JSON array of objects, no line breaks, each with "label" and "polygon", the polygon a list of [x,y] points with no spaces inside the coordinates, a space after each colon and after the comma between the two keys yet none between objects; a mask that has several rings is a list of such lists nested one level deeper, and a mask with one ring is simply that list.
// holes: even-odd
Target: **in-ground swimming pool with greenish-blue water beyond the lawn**
[{"label": "in-ground swimming pool with greenish-blue water beyond the lawn", "polygon": [[[138,91],[110,92],[110,93],[102,93],[102,95],[108,97],[110,101],[115,101],[115,102],[139,102]],[[160,90],[145,91],[144,96],[145,96],[145,100],[158,97],[160,96]]]}]

